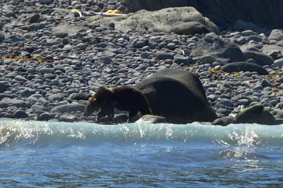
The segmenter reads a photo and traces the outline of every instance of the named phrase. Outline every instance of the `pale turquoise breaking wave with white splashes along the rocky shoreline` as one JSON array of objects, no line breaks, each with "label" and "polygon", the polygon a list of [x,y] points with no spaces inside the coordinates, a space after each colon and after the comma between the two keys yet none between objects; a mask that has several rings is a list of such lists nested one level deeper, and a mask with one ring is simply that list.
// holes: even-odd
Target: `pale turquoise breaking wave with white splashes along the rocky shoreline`
[{"label": "pale turquoise breaking wave with white splashes along the rocky shoreline", "polygon": [[28,141],[90,141],[95,143],[166,143],[213,144],[235,151],[253,152],[265,144],[282,146],[283,126],[232,124],[220,127],[204,124],[119,124],[101,125],[86,122],[0,121],[0,144]]}]

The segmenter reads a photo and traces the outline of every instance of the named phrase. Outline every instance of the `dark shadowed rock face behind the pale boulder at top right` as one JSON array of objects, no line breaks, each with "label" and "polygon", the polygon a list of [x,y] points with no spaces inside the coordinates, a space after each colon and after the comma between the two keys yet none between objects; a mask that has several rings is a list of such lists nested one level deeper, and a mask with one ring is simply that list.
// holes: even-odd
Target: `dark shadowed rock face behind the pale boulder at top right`
[{"label": "dark shadowed rock face behind the pale boulder at top right", "polygon": [[128,12],[141,9],[156,11],[162,8],[193,6],[216,25],[232,26],[237,20],[246,20],[261,28],[282,28],[283,1],[270,0],[125,0]]}]

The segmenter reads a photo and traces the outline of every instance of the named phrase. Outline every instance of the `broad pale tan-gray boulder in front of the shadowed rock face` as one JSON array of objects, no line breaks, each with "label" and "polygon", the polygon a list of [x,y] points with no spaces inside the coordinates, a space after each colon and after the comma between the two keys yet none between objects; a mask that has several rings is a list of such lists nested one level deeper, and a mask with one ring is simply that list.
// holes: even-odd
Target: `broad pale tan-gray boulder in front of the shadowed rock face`
[{"label": "broad pale tan-gray boulder in front of the shadowed rock face", "polygon": [[92,16],[86,20],[100,27],[108,27],[110,23],[115,23],[115,29],[123,32],[131,29],[147,32],[190,33],[189,30],[193,30],[192,33],[212,31],[219,34],[216,25],[208,18],[204,18],[194,7],[164,8],[159,11],[141,10],[126,16],[111,18]]}]

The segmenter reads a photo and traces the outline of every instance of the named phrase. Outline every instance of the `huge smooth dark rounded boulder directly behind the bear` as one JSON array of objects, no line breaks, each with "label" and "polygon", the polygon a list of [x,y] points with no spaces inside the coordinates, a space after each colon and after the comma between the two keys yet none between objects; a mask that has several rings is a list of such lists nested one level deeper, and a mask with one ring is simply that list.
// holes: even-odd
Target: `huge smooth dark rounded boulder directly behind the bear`
[{"label": "huge smooth dark rounded boulder directly behind the bear", "polygon": [[158,71],[137,88],[146,95],[153,114],[165,117],[169,123],[213,122],[217,118],[202,83],[191,72]]}]

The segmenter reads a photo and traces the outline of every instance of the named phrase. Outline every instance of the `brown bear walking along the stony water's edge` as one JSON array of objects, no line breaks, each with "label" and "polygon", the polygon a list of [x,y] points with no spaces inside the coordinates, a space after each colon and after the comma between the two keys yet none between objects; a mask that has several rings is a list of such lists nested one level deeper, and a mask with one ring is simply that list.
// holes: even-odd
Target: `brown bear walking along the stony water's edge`
[{"label": "brown bear walking along the stony water's edge", "polygon": [[144,93],[132,86],[117,86],[115,88],[101,87],[88,100],[85,116],[100,110],[97,114],[101,117],[114,117],[114,109],[129,111],[129,119],[132,119],[138,112],[141,114],[152,114]]}]

